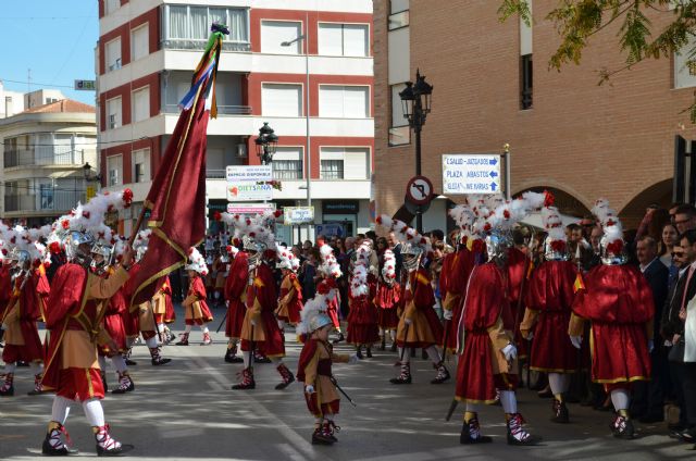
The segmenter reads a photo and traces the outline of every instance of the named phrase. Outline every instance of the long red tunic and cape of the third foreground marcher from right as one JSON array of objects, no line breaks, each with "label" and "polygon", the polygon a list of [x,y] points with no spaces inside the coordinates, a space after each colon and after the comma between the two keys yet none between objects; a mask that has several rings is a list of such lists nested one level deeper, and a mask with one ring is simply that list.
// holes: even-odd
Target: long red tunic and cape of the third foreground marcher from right
[{"label": "long red tunic and cape of the third foreground marcher from right", "polygon": [[[463,352],[457,367],[456,398],[458,400],[492,403],[496,388],[500,388],[498,358],[488,328],[501,320],[511,331],[514,323],[506,294],[507,282],[494,263],[474,267],[469,281],[460,327],[464,331]],[[498,345],[495,345],[496,347]],[[506,376],[511,376],[506,373]]]}]

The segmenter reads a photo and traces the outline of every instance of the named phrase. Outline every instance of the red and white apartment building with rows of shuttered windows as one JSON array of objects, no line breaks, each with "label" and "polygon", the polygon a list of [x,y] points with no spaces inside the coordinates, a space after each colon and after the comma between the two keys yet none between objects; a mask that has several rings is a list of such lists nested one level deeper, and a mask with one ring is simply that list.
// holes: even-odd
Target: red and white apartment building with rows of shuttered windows
[{"label": "red and white apartment building with rows of shuttered windows", "polygon": [[[129,234],[161,164],[213,21],[231,35],[217,73],[219,116],[208,126],[210,214],[227,208],[226,166],[260,163],[253,140],[269,123],[279,138],[273,169],[283,185],[273,203],[307,204],[309,174],[316,224],[366,230],[374,149],[371,0],[100,0],[102,186],[130,187],[136,203],[122,232]],[[277,234],[288,244],[313,237],[283,225]]]}]

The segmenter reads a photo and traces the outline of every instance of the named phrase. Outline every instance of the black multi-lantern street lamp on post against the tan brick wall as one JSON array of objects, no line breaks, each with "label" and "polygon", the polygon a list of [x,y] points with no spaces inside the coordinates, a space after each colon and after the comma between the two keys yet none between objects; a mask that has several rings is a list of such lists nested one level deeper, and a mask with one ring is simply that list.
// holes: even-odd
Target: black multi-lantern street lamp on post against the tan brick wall
[{"label": "black multi-lantern street lamp on post against the tan brick wall", "polygon": [[[425,125],[425,119],[431,112],[431,95],[433,86],[425,82],[425,76],[421,75],[420,68],[415,71],[415,84],[406,83],[406,88],[399,92],[401,105],[403,107],[403,117],[408,119],[409,126],[415,133],[415,175],[421,175],[421,129]],[[423,214],[415,213],[415,229],[423,232]]]}]

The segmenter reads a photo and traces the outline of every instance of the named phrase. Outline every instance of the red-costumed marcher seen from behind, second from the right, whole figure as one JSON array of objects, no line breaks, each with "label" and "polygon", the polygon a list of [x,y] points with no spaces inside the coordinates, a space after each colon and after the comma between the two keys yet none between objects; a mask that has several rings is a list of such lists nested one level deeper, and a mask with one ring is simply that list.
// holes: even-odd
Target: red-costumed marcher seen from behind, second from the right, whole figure
[{"label": "red-costumed marcher seen from behind, second from the right, whole figure", "polygon": [[554,394],[551,421],[568,423],[564,398],[570,386],[570,374],[577,371],[577,352],[568,337],[577,270],[570,261],[558,209],[542,209],[542,222],[548,233],[544,242],[544,262],[534,270],[529,281],[526,311],[520,331],[525,339],[534,338],[530,370],[548,373]]}]

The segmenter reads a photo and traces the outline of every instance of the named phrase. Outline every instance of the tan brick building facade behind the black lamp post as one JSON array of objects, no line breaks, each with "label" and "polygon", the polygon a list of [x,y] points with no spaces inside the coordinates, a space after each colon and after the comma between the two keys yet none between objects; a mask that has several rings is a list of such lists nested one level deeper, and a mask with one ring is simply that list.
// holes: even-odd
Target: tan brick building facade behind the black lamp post
[{"label": "tan brick building facade behind the black lamp post", "polygon": [[[374,2],[377,209],[394,213],[414,172],[414,146],[388,147],[389,2]],[[591,208],[606,197],[630,222],[654,201],[671,201],[674,135],[696,137],[683,110],[694,88],[673,88],[673,60],[636,65],[597,86],[597,71],[624,65],[619,24],[597,34],[580,65],[547,71],[559,43],[544,17],[557,2],[534,1],[533,108],[520,110],[520,26],[499,23],[501,0],[410,2],[411,78],[434,86],[423,128],[423,174],[442,187],[442,154],[512,152],[512,192],[552,187]],[[668,15],[652,14],[654,25]]]}]

